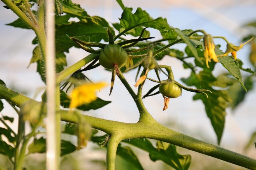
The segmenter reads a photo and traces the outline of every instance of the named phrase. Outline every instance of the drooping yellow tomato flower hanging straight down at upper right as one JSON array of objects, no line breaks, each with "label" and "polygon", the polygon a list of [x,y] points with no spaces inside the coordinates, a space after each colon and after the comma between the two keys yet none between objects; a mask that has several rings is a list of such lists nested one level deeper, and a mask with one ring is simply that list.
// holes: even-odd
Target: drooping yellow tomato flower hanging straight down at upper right
[{"label": "drooping yellow tomato flower hanging straight down at upper right", "polygon": [[206,59],[206,66],[210,68],[208,62],[211,62],[211,59],[215,62],[218,62],[217,56],[215,54],[215,45],[213,42],[213,38],[210,34],[206,34],[204,36],[204,57]]}]

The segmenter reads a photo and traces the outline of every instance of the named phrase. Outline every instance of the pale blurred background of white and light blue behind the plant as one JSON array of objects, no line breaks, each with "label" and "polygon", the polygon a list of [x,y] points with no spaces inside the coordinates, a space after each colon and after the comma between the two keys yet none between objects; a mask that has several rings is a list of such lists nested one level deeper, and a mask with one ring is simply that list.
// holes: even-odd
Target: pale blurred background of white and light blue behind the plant
[{"label": "pale blurred background of white and light blue behind the plant", "polygon": [[[73,0],[73,2],[81,4],[81,7],[85,8],[89,15],[101,16],[110,23],[119,22],[118,18],[121,18],[122,9],[115,0]],[[243,27],[243,25],[256,20],[255,0],[123,0],[123,3],[127,7],[132,7],[134,12],[137,7],[141,7],[153,18],[167,18],[171,26],[181,30],[204,29],[213,36],[224,36],[236,45],[239,45],[242,38],[250,33],[250,29]],[[0,2],[0,79],[6,83],[7,87],[40,101],[45,85],[36,72],[36,64],[33,63],[28,67],[34,49],[31,41],[35,34],[31,30],[5,25],[18,17],[12,11],[3,8],[3,5]],[[158,31],[148,30],[151,36],[161,39]],[[215,44],[222,45],[221,49],[225,51],[226,44],[224,41],[217,39]],[[184,50],[185,45],[176,45],[174,48]],[[238,58],[244,62],[245,68],[251,67],[248,60],[249,53],[249,45],[244,46],[237,53]],[[67,63],[71,65],[86,55],[88,55],[87,52],[73,47],[70,49],[70,53],[66,54]],[[182,63],[175,58],[166,56],[159,63],[170,65],[175,80],[180,83],[182,83],[180,78],[187,78],[190,75],[190,71],[184,70]],[[131,85],[135,84],[136,71],[133,70],[125,74]],[[222,72],[225,72],[225,69],[218,63],[213,74],[216,76]],[[245,72],[242,74],[246,75]],[[105,81],[110,84],[111,80],[111,73],[102,67],[98,67],[96,71],[88,71],[86,76],[94,82]],[[154,72],[149,72],[148,76],[155,78]],[[160,76],[162,79],[166,78],[164,75]],[[143,94],[154,85],[154,83],[147,81]],[[136,91],[136,88],[133,89]],[[98,96],[103,100],[112,101],[112,103],[98,110],[84,112],[84,114],[128,123],[138,121],[139,113],[136,105],[118,78],[116,78],[111,96],[108,94],[109,88],[105,88],[98,93]],[[193,101],[193,96],[194,93],[184,90],[181,97],[170,99],[169,108],[166,111],[162,111],[164,99],[160,94],[144,99],[144,103],[148,111],[160,123],[178,132],[217,145],[217,137],[205,113],[204,105],[201,100]],[[226,123],[220,144],[221,147],[254,159],[256,159],[254,146],[246,152],[244,146],[251,134],[256,131],[255,101],[256,88],[246,95],[244,102],[236,110],[227,109]],[[16,117],[15,111],[7,103],[4,103],[4,110],[1,113]],[[12,127],[14,131],[17,131],[17,119],[15,119]],[[73,140],[75,143],[76,139]],[[74,165],[78,165],[77,162],[80,162],[78,169],[84,169],[84,167],[87,169],[104,169],[105,150],[98,147],[95,149],[95,147],[95,144],[89,143],[85,149],[64,157],[62,169],[73,169]],[[171,169],[160,161],[152,162],[146,152],[136,148],[133,150],[138,154],[144,169]],[[224,167],[225,169],[243,169],[186,149],[179,148],[178,151],[182,154],[192,155],[191,169],[223,169]],[[36,164],[37,167],[34,165],[35,160],[41,163],[42,169],[44,169],[45,161],[42,154],[28,157],[27,162],[25,162],[27,168],[39,169],[39,164]],[[2,159],[0,163],[5,164],[6,162]],[[118,159],[118,165],[120,166],[117,169],[120,170],[126,169],[128,166],[121,159]]]}]

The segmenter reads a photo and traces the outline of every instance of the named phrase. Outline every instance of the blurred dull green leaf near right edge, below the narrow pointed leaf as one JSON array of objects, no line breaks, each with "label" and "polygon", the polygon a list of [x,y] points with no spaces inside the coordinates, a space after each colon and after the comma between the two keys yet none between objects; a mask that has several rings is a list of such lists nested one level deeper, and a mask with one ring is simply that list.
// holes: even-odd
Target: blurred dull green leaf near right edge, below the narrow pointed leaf
[{"label": "blurred dull green leaf near right edge, below the narrow pointed leaf", "polygon": [[[245,78],[244,85],[247,89],[247,92],[252,90],[254,87],[253,78],[251,76]],[[232,99],[230,106],[233,110],[244,100],[247,92],[244,91],[244,89],[238,83],[234,83],[228,88],[229,96]]]}]

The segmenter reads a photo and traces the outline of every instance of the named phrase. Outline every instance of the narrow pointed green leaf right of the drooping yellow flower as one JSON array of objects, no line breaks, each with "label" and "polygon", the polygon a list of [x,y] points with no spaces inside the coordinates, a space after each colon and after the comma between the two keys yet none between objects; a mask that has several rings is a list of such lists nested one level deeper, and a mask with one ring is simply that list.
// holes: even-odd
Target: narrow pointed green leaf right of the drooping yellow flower
[{"label": "narrow pointed green leaf right of the drooping yellow flower", "polygon": [[245,91],[247,91],[244,86],[243,78],[240,72],[239,63],[233,58],[226,56],[218,58],[219,62],[232,74],[237,81],[242,85]]}]

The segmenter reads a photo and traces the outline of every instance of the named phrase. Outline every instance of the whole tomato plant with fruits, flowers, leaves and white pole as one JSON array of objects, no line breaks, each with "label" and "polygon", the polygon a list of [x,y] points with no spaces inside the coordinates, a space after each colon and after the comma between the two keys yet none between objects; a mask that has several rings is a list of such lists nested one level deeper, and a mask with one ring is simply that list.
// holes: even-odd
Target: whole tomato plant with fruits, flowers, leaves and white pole
[{"label": "whole tomato plant with fruits, flowers, leaves and white pole", "polygon": [[[236,52],[252,41],[250,61],[255,66],[253,36],[247,37],[244,43],[237,46],[225,37],[212,36],[205,30],[174,28],[166,19],[153,19],[141,8],[137,8],[133,13],[133,9],[125,7],[121,0],[117,0],[123,10],[120,22],[112,25],[102,17],[88,15],[80,5],[71,0],[55,0],[55,15],[51,14],[54,12],[51,0],[2,2],[6,4],[5,8],[12,10],[19,17],[8,25],[35,32],[36,38],[32,41],[35,48],[30,64],[37,64],[37,72],[47,87],[41,101],[35,101],[15,92],[0,80],[0,111],[3,109],[2,100],[5,100],[18,115],[17,133],[6,123],[12,123],[13,118],[2,116],[0,119],[5,126],[0,129],[0,153],[8,157],[14,169],[24,169],[25,157],[32,153],[46,153],[47,169],[59,169],[61,156],[83,149],[88,141],[107,149],[108,170],[115,169],[116,155],[127,161],[133,169],[143,169],[132,149],[122,146],[124,143],[148,152],[152,161],[161,160],[177,170],[189,169],[191,156],[179,154],[176,146],[245,168],[256,169],[256,160],[253,158],[195,139],[160,124],[148,112],[143,102],[145,97],[161,93],[166,110],[170,98],[181,96],[182,89],[183,92],[195,93],[193,100],[201,100],[205,105],[206,114],[217,136],[217,143],[220,144],[226,109],[229,105],[236,107],[241,102],[234,93],[244,97],[245,91],[252,89],[250,84],[253,84],[255,72],[243,67],[243,62]],[[34,11],[32,6],[35,5],[37,7]],[[70,21],[73,17],[77,17],[79,21]],[[152,40],[154,37],[150,37],[147,28],[158,30],[162,38]],[[134,38],[128,39],[126,35]],[[215,44],[215,39],[225,41],[225,52]],[[185,44],[186,47],[181,51],[175,48],[176,44]],[[90,54],[67,66],[66,53],[71,47],[81,48]],[[165,56],[174,57],[183,63],[184,69],[189,69],[190,76],[181,79],[185,85],[174,79],[172,63],[159,64]],[[192,59],[192,63],[188,63],[187,59]],[[222,65],[227,74],[215,77],[212,71],[216,65]],[[97,71],[97,67],[103,67],[112,73],[110,94],[115,76],[118,76],[137,106],[137,123],[86,115],[86,111],[96,110],[111,103],[96,96],[106,83],[93,83],[89,79],[93,75],[88,74],[88,70]],[[125,73],[133,69],[138,70],[134,75],[137,91],[125,78]],[[148,72],[153,69],[158,80],[148,76]],[[240,70],[250,74],[245,81]],[[165,79],[161,80],[160,72]],[[147,80],[157,85],[143,96],[143,86]],[[68,95],[70,91],[71,96]],[[122,95],[123,92],[119,95],[120,100]],[[129,104],[124,105],[127,106],[129,107]],[[65,122],[63,128],[61,121]],[[25,124],[29,125],[28,133]],[[105,135],[98,136],[98,130]],[[76,136],[77,143],[62,138],[62,133]],[[2,135],[6,139],[2,138]],[[156,145],[149,139],[156,140]]]}]

